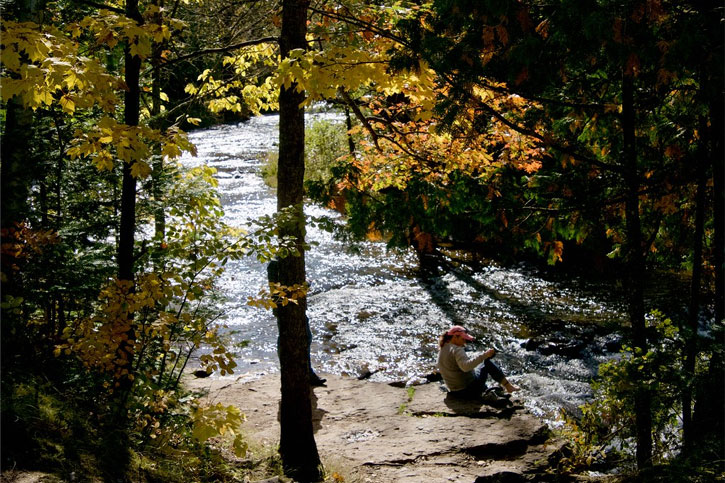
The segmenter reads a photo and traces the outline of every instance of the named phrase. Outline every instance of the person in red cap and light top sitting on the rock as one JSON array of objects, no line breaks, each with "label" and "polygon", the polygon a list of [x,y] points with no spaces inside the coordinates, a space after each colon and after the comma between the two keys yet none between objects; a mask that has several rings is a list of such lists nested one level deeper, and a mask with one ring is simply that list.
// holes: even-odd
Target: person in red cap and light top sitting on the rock
[{"label": "person in red cap and light top sitting on the rock", "polygon": [[501,369],[491,361],[496,349],[469,356],[464,347],[474,340],[468,331],[455,325],[440,336],[438,341],[438,370],[451,396],[476,399],[486,391],[486,378],[499,383],[508,393],[519,388],[511,384]]}]

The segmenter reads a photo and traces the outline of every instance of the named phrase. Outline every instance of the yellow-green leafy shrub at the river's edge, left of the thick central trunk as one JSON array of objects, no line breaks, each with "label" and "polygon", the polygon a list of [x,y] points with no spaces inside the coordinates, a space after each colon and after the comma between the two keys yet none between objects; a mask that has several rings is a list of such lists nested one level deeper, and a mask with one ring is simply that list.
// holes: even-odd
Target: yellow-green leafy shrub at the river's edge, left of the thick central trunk
[{"label": "yellow-green leafy shrub at the river's edge, left of the thick central trunk", "polygon": [[[229,373],[236,365],[208,304],[223,259],[244,251],[220,223],[223,212],[207,182],[212,176],[210,168],[197,168],[177,182],[184,196],[171,194],[179,204],[160,247],[166,262],[157,260],[158,270],[140,275],[134,290],[130,281],[112,281],[101,291],[96,313],[64,333],[57,353],[75,354],[89,369],[105,374],[110,390],[121,377],[158,381],[169,370],[163,361],[176,367],[178,357],[200,348],[208,351],[201,361],[209,372]],[[133,375],[125,365],[131,357],[142,368]],[[142,364],[138,357],[151,360]]]}]

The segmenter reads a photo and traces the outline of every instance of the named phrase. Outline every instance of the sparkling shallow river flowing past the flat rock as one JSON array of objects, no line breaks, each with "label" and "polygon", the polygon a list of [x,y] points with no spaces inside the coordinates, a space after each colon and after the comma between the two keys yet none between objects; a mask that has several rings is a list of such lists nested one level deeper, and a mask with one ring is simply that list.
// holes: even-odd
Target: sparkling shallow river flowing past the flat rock
[{"label": "sparkling shallow river flowing past the flat rock", "polygon": [[[312,117],[339,118],[330,114]],[[260,175],[266,153],[277,148],[278,120],[261,116],[190,134],[198,155],[186,166],[218,170],[225,221],[245,226],[271,215],[276,194]],[[339,215],[320,206],[311,216]],[[590,381],[600,362],[613,356],[616,337],[602,325],[621,323],[622,305],[607,291],[575,279],[556,280],[520,264],[460,264],[423,275],[412,252],[391,253],[364,242],[352,253],[332,234],[311,227],[306,253],[310,282],[308,315],[311,356],[321,373],[367,376],[378,381],[422,381],[435,372],[438,336],[465,325],[476,337],[471,350],[497,347],[495,360],[522,388],[521,399],[535,414],[552,419],[591,396]],[[246,305],[266,286],[266,267],[253,257],[227,265],[222,289],[228,297],[226,324],[238,341],[238,369],[277,370],[277,327],[269,311]]]}]

